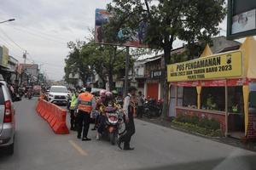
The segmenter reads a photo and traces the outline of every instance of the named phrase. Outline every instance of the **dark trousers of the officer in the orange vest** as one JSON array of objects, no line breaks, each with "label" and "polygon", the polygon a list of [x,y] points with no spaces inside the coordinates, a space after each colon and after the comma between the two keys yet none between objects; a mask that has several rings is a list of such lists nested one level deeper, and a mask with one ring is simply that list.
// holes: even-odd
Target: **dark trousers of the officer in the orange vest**
[{"label": "dark trousers of the officer in the orange vest", "polygon": [[78,136],[81,136],[83,129],[83,138],[87,138],[88,130],[90,127],[90,113],[79,111],[78,114]]}]

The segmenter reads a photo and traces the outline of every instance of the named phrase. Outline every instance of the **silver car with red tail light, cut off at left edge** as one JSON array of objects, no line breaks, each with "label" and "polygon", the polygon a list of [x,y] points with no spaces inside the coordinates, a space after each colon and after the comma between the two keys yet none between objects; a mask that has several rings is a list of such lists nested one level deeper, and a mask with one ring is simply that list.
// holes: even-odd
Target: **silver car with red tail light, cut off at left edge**
[{"label": "silver car with red tail light, cut off at left edge", "polygon": [[7,83],[0,80],[0,150],[9,155],[15,145],[15,107]]}]

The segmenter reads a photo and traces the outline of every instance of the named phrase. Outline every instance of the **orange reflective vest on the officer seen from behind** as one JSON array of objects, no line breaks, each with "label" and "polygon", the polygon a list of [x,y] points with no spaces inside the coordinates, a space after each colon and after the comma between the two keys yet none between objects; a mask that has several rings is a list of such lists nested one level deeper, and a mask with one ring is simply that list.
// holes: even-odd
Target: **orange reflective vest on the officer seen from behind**
[{"label": "orange reflective vest on the officer seen from behind", "polygon": [[79,111],[90,113],[90,111],[92,111],[92,99],[93,95],[88,92],[79,94]]}]

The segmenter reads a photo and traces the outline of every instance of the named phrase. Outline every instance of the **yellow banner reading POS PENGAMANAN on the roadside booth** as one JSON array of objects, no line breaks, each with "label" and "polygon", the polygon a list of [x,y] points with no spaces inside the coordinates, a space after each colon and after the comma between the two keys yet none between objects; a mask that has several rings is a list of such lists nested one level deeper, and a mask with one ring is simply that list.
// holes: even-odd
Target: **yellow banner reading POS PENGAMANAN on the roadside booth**
[{"label": "yellow banner reading POS PENGAMANAN on the roadside booth", "polygon": [[168,82],[241,77],[242,54],[233,51],[167,65]]}]

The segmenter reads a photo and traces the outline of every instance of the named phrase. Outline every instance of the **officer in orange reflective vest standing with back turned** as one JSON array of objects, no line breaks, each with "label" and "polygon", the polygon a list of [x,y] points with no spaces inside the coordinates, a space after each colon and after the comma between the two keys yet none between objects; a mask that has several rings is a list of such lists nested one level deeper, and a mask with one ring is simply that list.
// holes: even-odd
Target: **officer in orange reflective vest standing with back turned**
[{"label": "officer in orange reflective vest standing with back turned", "polygon": [[83,131],[83,141],[90,140],[90,138],[87,137],[90,127],[90,112],[95,110],[93,107],[93,105],[95,105],[95,99],[93,95],[90,94],[90,91],[90,87],[85,88],[85,92],[84,89],[82,89],[76,105],[76,108],[78,108],[78,139],[81,139],[81,134]]}]

